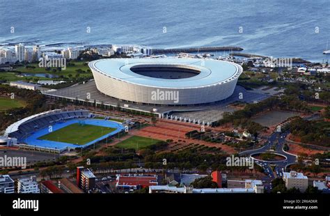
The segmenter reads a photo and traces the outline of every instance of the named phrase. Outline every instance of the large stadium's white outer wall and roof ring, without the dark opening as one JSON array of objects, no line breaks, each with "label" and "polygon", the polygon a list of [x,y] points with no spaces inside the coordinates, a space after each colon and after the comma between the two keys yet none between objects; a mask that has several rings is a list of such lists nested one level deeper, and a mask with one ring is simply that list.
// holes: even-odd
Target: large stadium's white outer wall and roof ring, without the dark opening
[{"label": "large stadium's white outer wall and roof ring, without the dark opening", "polygon": [[[103,62],[98,67],[97,63],[100,63],[100,61],[108,61],[109,65],[104,67],[107,63]],[[120,61],[122,64],[115,63],[112,65],[111,61]],[[93,72],[98,91],[113,98],[130,102],[159,105],[194,105],[217,102],[233,94],[237,79],[243,71],[240,65],[224,61],[218,61],[221,64],[217,65],[216,60],[205,60],[201,64],[196,63],[196,61],[203,60],[185,59],[185,61],[182,61],[180,59],[180,62],[178,62],[178,59],[175,58],[166,58],[165,61],[155,61],[154,59],[143,59],[143,61],[141,59],[102,59],[92,61],[89,66]],[[212,61],[212,64],[210,63],[212,67],[207,68],[207,61]],[[196,70],[202,70],[203,75],[201,73],[184,79],[160,79],[142,76],[130,70],[135,65],[141,64],[152,64],[154,66],[166,64],[175,67],[175,65],[184,65],[184,63],[196,68]],[[223,79],[223,76],[221,79],[215,75],[212,77],[212,74],[217,73],[213,71],[214,68],[221,67],[221,65],[227,66],[227,64],[233,65],[233,67],[230,68],[228,76],[225,76],[226,79]],[[124,70],[125,68],[127,69]],[[223,73],[226,73],[226,71],[223,71]],[[178,100],[168,97],[160,97],[162,100],[155,100],[155,97],[153,97],[155,93],[158,95],[159,93],[178,93]]]}]

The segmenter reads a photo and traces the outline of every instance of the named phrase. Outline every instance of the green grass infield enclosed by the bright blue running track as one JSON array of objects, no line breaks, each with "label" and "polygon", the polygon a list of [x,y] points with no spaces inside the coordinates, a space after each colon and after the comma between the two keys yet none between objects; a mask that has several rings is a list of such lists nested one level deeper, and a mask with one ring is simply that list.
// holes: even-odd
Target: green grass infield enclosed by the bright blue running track
[{"label": "green grass infield enclosed by the bright blue running track", "polygon": [[42,137],[38,137],[38,139],[84,145],[90,141],[102,137],[104,134],[109,134],[114,130],[116,130],[116,128],[106,128],[96,125],[80,125],[79,123],[74,123]]}]

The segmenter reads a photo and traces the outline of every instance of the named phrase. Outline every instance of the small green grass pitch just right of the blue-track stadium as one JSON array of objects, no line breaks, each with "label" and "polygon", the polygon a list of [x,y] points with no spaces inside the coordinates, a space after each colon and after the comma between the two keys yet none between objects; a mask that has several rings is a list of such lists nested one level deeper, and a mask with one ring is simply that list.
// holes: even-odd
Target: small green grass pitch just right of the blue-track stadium
[{"label": "small green grass pitch just right of the blue-track stadium", "polygon": [[117,147],[120,148],[134,148],[135,150],[146,148],[146,146],[150,146],[152,144],[156,144],[158,139],[151,139],[148,137],[139,137],[133,136],[121,141],[119,144],[116,144]]}]

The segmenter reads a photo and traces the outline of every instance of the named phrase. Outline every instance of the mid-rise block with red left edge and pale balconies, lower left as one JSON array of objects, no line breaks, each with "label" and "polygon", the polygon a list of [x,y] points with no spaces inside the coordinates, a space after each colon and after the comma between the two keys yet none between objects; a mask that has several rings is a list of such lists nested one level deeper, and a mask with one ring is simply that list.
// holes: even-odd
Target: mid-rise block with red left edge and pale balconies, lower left
[{"label": "mid-rise block with red left edge and pale balconies, lower left", "polygon": [[77,167],[77,186],[85,192],[95,188],[95,176],[91,170]]}]

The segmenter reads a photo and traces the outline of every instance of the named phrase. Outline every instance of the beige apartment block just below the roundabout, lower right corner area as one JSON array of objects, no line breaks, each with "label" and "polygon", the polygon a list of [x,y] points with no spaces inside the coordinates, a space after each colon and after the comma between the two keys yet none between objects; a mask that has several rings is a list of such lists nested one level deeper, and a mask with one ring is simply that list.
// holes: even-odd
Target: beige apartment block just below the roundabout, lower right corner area
[{"label": "beige apartment block just below the roundabout, lower right corner area", "polygon": [[297,173],[296,171],[290,171],[290,173],[283,173],[283,180],[285,187],[291,189],[296,187],[300,192],[305,192],[308,187],[308,178],[303,173]]}]

